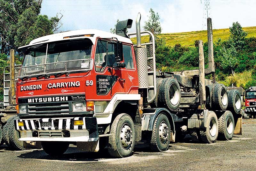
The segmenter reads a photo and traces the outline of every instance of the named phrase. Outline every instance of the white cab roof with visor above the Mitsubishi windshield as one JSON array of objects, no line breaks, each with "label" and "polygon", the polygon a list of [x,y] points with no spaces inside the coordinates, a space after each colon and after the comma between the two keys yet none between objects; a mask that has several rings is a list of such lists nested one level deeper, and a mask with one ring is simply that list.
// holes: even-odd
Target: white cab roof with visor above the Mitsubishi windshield
[{"label": "white cab roof with visor above the Mitsubishi windshield", "polygon": [[[83,35],[87,35],[87,36],[83,36]],[[49,42],[62,41],[62,40],[76,40],[76,39],[84,39],[84,38],[90,39],[92,43],[95,44],[97,37],[100,37],[100,38],[115,37],[117,38],[118,41],[132,44],[131,39],[123,36],[119,36],[117,34],[108,33],[108,32],[96,30],[96,29],[84,29],[84,30],[74,30],[74,31],[55,33],[55,34],[39,37],[37,39],[34,39],[33,41],[30,41],[28,45],[19,47],[19,49],[21,50],[26,49],[28,47],[42,44],[42,43],[49,43]]]}]

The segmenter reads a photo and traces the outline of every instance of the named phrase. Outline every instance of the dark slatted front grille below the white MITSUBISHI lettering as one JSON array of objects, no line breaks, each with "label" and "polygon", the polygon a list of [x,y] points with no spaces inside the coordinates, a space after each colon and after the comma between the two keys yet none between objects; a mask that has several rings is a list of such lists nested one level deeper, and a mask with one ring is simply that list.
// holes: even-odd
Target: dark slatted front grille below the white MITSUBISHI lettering
[{"label": "dark slatted front grille below the white MITSUBISHI lettering", "polygon": [[28,114],[69,114],[68,102],[28,104]]}]

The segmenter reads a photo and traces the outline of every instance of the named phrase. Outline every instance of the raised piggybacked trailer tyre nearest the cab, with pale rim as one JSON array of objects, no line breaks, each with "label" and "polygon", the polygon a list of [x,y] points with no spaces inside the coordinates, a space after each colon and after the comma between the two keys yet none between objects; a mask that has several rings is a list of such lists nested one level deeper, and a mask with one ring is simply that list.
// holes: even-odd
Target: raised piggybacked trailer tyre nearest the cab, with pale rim
[{"label": "raised piggybacked trailer tyre nearest the cab, with pale rim", "polygon": [[159,86],[158,100],[162,107],[176,110],[180,106],[180,85],[175,78],[164,78]]}]

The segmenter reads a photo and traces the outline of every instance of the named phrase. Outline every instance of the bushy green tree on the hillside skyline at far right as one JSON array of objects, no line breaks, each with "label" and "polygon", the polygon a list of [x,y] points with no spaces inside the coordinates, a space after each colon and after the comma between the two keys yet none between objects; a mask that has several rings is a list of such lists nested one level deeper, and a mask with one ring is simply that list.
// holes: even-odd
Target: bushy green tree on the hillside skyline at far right
[{"label": "bushy green tree on the hillside skyline at far right", "polygon": [[230,36],[228,42],[232,44],[236,50],[242,50],[245,45],[245,37],[247,32],[245,32],[242,26],[238,22],[234,22],[232,27],[229,27]]}]

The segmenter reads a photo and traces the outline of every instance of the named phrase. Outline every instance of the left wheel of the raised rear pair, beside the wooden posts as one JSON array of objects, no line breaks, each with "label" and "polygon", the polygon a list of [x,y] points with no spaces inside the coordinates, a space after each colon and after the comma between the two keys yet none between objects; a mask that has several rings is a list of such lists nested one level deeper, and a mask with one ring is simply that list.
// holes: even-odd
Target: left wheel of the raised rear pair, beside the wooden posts
[{"label": "left wheel of the raised rear pair, beside the wooden posts", "polygon": [[216,84],[214,86],[212,102],[215,110],[226,110],[228,107],[228,93],[225,85]]}]

